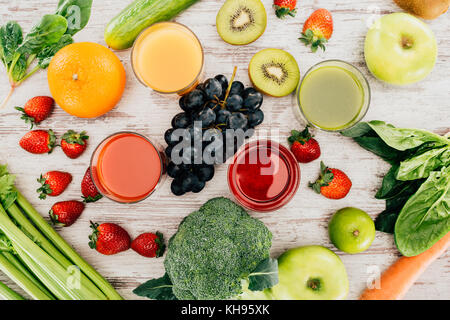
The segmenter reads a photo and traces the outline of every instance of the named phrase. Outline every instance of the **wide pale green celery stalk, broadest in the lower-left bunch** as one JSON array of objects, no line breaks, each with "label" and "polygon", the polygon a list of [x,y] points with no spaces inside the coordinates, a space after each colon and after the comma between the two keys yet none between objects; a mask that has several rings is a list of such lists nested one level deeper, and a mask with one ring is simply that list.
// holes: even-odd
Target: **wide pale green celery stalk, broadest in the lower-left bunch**
[{"label": "wide pale green celery stalk, broadest in the lower-left bunch", "polygon": [[[30,270],[59,299],[93,299],[90,292],[66,285],[68,271],[26,236],[0,206],[0,229]],[[41,272],[42,271],[42,272]]]}]

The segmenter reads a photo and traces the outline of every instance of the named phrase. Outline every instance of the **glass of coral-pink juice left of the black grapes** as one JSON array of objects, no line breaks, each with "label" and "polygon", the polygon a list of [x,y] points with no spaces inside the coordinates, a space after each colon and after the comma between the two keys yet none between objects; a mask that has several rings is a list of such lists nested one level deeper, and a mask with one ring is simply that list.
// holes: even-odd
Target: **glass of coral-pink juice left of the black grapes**
[{"label": "glass of coral-pink juice left of the black grapes", "polygon": [[120,203],[149,197],[162,183],[166,157],[161,148],[134,132],[103,140],[91,158],[92,180],[101,194]]}]

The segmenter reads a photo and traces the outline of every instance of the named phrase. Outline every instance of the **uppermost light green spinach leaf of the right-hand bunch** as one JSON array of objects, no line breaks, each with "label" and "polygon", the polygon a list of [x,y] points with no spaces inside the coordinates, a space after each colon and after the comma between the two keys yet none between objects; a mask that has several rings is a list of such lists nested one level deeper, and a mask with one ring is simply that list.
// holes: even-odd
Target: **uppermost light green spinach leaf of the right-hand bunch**
[{"label": "uppermost light green spinach leaf of the right-hand bunch", "polygon": [[450,145],[449,139],[426,130],[395,128],[383,121],[370,121],[368,124],[388,146],[400,151],[419,147],[426,142]]}]

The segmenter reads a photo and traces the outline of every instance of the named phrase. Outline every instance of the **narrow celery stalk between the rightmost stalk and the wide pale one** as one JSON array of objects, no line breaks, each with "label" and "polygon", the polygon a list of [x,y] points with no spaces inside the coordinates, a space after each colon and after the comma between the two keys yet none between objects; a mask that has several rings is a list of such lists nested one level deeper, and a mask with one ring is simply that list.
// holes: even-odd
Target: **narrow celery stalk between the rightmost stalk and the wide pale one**
[{"label": "narrow celery stalk between the rightmost stalk and the wide pale one", "polygon": [[[19,224],[20,228],[23,229],[25,234],[31,237],[31,240],[36,242],[42,249],[44,249],[50,256],[53,257],[59,264],[64,268],[73,266],[73,263],[69,261],[58,249],[56,249],[53,244],[45,238],[39,230],[23,215],[22,211],[16,204],[11,205],[8,208],[8,213],[11,217]],[[89,278],[83,273],[80,274],[81,286],[92,292],[93,296],[96,296],[97,300],[106,300],[106,296],[103,292],[91,282]]]}]

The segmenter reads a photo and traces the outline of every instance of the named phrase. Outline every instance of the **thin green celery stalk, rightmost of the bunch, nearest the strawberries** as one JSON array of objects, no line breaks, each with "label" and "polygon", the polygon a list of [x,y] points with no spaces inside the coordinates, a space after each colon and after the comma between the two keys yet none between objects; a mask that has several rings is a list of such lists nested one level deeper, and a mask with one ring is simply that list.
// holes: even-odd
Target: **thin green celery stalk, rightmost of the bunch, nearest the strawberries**
[{"label": "thin green celery stalk, rightmost of the bunch, nearest the strawberries", "polygon": [[[14,188],[15,191],[17,189]],[[103,278],[93,267],[91,267],[33,208],[28,200],[17,191],[17,203],[27,217],[36,227],[57,247],[66,257],[76,264],[84,274],[94,282],[97,287],[111,300],[122,300],[123,298],[114,287]]]}]

